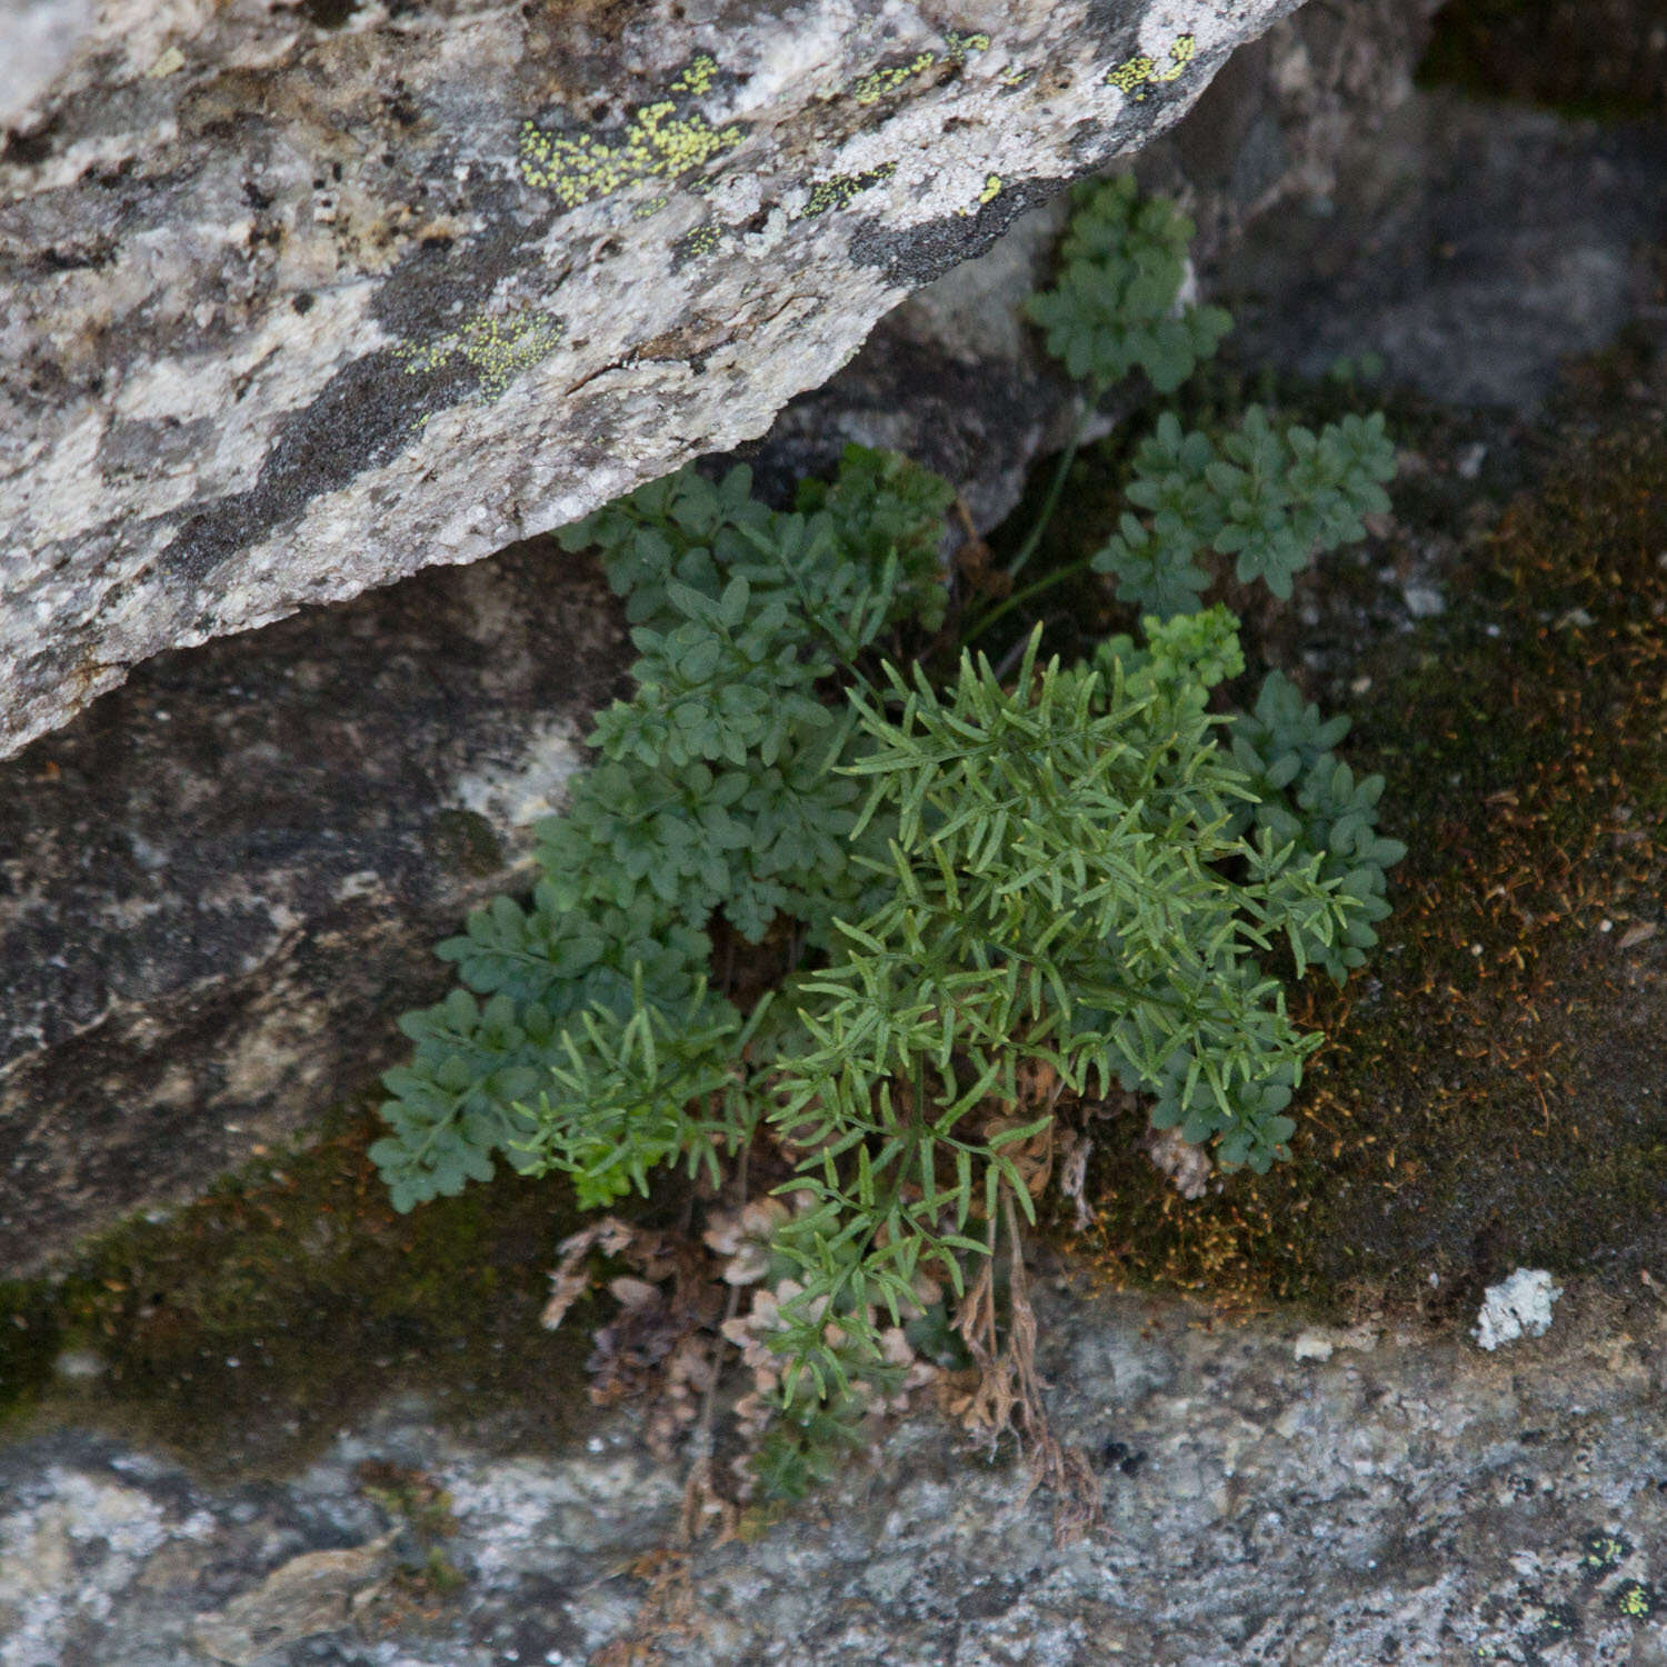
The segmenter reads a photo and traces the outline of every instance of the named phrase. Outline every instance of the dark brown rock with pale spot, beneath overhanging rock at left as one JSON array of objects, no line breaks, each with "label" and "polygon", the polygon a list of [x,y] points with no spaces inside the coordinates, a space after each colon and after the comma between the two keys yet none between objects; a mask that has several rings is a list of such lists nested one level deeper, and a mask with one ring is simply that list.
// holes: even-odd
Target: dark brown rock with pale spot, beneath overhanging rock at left
[{"label": "dark brown rock with pale spot, beneath overhanging rock at left", "polygon": [[0,765],[0,1270],[393,1064],[530,884],[623,618],[550,540],[158,657]]}]

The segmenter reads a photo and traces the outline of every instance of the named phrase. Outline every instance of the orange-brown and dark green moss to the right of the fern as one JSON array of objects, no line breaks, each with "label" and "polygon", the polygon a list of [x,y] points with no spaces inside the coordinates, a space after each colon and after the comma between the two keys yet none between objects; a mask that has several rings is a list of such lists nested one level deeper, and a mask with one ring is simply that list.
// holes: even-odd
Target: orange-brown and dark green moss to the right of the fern
[{"label": "orange-brown and dark green moss to the right of the fern", "polygon": [[1115,1279],[1444,1312],[1517,1264],[1625,1292],[1667,1254],[1664,557],[1667,442],[1580,443],[1410,638],[1354,757],[1412,854],[1374,965],[1302,995],[1329,1044],[1295,1157],[1189,1204],[1119,1129]]}]

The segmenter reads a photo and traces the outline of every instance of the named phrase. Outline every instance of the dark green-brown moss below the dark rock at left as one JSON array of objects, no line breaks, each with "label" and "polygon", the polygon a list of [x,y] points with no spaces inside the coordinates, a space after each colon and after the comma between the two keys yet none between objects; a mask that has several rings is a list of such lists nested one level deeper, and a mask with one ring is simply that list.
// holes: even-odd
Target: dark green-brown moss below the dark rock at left
[{"label": "dark green-brown moss below the dark rock at left", "polygon": [[[0,1287],[0,1417],[90,1420],[220,1472],[288,1467],[393,1385],[512,1435],[583,1422],[583,1329],[538,1327],[568,1190],[500,1174],[397,1215],[365,1157],[380,1134],[345,1107],[307,1150]],[[102,1375],[60,1379],[67,1350]]]}]

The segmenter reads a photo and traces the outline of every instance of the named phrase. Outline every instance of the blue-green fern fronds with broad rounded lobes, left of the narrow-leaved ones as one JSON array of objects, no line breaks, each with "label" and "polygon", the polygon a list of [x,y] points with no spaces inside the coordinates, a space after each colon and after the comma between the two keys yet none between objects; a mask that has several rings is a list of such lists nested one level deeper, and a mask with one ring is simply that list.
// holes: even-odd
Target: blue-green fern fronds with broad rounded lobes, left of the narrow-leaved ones
[{"label": "blue-green fern fronds with broad rounded lobes, left of the narrow-leaved ones", "polygon": [[570,1040],[630,1022],[638,972],[653,1014],[687,1017],[713,914],[748,942],[790,915],[822,945],[865,895],[847,840],[859,788],[835,772],[854,715],[815,688],[887,625],[932,617],[949,488],[860,448],[805,493],[808,513],[770,512],[750,485],[745,468],[718,483],[685,470],[562,535],[597,545],[638,622],[637,693],[598,715],[598,763],[538,828],[532,907],[477,910],[440,947],[467,990],[402,1022],[417,1047],[387,1077],[390,1132],[372,1149],[400,1209],[490,1179],[493,1155],[545,1162],[517,1147],[523,1102],[552,1062],[567,1069]]}]

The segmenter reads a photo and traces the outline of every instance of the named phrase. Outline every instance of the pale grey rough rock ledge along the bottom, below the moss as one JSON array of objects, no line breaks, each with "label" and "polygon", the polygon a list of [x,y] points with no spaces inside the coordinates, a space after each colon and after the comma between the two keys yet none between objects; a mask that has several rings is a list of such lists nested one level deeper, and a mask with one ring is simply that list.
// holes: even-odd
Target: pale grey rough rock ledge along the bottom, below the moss
[{"label": "pale grey rough rock ledge along the bottom, below the moss", "polygon": [[[680,1477],[628,1414],[537,1454],[393,1402],[293,1480],[220,1489],[65,1430],[0,1452],[0,1667],[578,1667],[633,1632],[658,1654],[612,1659],[1667,1660],[1667,1309],[1620,1327],[1570,1299],[1509,1357],[1374,1325],[1319,1349],[1127,1297],[1042,1317],[1104,1507],[1075,1544],[1022,1467],[934,1415],[755,1544],[697,1545],[687,1584],[653,1557]],[[387,1515],[365,1460],[443,1487],[457,1532]],[[430,1550],[462,1577],[448,1595],[402,1582]]]}]

